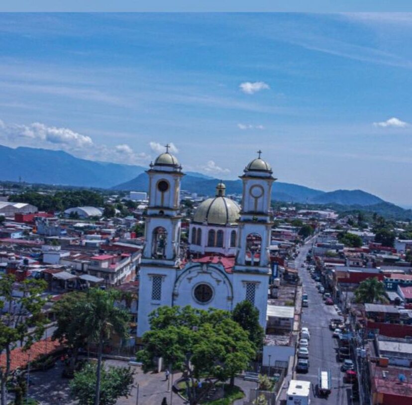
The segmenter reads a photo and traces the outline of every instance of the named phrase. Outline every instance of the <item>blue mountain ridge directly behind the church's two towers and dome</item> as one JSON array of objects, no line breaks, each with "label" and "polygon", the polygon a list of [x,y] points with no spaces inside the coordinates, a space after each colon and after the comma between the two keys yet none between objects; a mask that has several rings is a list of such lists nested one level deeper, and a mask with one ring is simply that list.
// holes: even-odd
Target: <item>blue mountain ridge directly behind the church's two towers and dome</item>
[{"label": "blue mountain ridge directly behind the church's two towers and dome", "polygon": [[[186,175],[182,179],[182,190],[198,193],[199,195],[212,196],[218,179],[205,179],[204,177]],[[226,185],[226,194],[241,194],[243,191],[242,181],[224,180]],[[114,190],[123,191],[146,191],[149,188],[148,177],[146,173],[138,175],[135,179],[112,187]],[[275,182],[272,189],[272,198],[277,201],[285,202],[307,202],[324,192],[309,189],[308,187],[298,186],[296,184]]]}]

